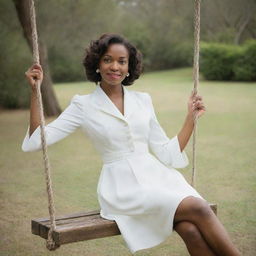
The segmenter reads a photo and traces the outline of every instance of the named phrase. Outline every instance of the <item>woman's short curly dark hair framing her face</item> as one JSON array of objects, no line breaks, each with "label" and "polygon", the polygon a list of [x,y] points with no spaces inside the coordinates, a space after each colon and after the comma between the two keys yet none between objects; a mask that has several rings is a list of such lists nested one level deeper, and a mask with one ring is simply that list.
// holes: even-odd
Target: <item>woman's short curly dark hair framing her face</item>
[{"label": "woman's short curly dark hair framing her face", "polygon": [[142,73],[142,54],[135,46],[118,34],[103,34],[98,40],[91,41],[83,60],[87,79],[96,84],[101,81],[101,75],[96,72],[96,69],[99,67],[101,57],[111,44],[122,44],[127,48],[129,52],[128,72],[130,75],[122,81],[122,84],[133,84],[134,80],[138,79]]}]

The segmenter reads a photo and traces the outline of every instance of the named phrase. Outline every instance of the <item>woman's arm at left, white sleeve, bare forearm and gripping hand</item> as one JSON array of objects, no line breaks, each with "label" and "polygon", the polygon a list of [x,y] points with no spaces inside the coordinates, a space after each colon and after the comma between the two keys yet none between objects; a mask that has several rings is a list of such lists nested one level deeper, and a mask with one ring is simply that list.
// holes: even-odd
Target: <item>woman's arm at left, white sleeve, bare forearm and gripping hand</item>
[{"label": "woman's arm at left, white sleeve, bare forearm and gripping hand", "polygon": [[[41,83],[43,72],[41,66],[33,65],[26,72],[27,79],[32,88],[30,106],[30,127],[22,143],[25,152],[41,149],[41,130],[39,108],[36,95],[36,80]],[[80,127],[84,121],[83,102],[84,96],[75,95],[70,105],[51,123],[45,126],[45,138],[47,145],[52,145]]]}]

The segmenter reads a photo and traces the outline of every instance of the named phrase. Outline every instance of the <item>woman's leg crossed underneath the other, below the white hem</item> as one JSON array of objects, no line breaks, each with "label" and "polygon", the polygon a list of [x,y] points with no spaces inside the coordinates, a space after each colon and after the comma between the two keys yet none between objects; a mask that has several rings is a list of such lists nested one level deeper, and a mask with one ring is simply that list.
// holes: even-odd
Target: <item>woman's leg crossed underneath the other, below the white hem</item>
[{"label": "woman's leg crossed underneath the other, below the white hem", "polygon": [[174,229],[185,242],[191,256],[216,256],[193,223],[181,221],[175,224]]}]

